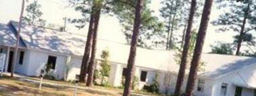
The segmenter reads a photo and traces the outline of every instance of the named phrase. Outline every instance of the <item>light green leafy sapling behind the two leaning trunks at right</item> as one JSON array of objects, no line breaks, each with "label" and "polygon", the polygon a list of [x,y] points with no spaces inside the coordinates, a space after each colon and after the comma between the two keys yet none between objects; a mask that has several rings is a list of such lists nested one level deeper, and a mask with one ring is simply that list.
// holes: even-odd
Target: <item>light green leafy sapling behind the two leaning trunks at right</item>
[{"label": "light green leafy sapling behind the two leaning trunks at right", "polygon": [[[194,54],[194,48],[195,48],[195,44],[196,44],[196,38],[197,38],[197,33],[196,30],[192,30],[192,34],[191,34],[191,38],[190,38],[190,45],[189,45],[189,49],[188,49],[188,58],[187,58],[187,62],[190,63]],[[182,49],[176,48],[177,52],[175,52],[175,62],[176,64],[180,64],[180,60],[182,58]],[[205,66],[206,62],[199,62],[199,67],[198,67],[198,71],[204,71],[205,68],[203,68]],[[187,66],[187,68],[189,68],[189,66]]]}]

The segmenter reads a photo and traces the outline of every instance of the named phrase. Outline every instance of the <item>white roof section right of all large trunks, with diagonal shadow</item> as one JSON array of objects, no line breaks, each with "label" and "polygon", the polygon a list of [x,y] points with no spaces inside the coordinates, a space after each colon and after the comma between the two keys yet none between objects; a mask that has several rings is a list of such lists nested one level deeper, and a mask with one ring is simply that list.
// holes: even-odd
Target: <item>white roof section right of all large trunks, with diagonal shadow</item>
[{"label": "white roof section right of all large trunks, with diagonal shadow", "polygon": [[207,62],[207,64],[205,66],[206,71],[201,72],[200,76],[214,79],[247,66],[256,66],[256,58],[247,56],[202,54],[201,60]]}]

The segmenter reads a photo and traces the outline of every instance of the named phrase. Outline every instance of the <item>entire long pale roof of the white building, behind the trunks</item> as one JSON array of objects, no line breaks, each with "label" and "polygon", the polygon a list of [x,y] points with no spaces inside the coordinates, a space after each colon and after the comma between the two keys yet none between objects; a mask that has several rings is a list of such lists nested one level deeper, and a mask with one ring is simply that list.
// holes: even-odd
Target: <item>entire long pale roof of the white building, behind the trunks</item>
[{"label": "entire long pale roof of the white building, behind the trunks", "polygon": [[[10,23],[14,26],[14,29],[18,29],[14,21],[10,21]],[[22,26],[20,35],[22,41],[28,48],[49,50],[51,52],[60,52],[76,56],[83,56],[87,38],[83,34],[59,32],[57,30],[26,25]],[[127,64],[129,49],[129,45],[98,39],[96,58],[100,59],[102,50],[109,50],[110,61],[125,65]],[[137,48],[135,66],[177,73],[179,65],[176,64],[174,60],[174,54],[175,52],[172,50]],[[216,79],[245,66],[256,65],[256,58],[247,56],[202,54],[201,60],[206,62],[206,65],[202,66],[205,71],[199,72],[198,75],[209,79]]]}]

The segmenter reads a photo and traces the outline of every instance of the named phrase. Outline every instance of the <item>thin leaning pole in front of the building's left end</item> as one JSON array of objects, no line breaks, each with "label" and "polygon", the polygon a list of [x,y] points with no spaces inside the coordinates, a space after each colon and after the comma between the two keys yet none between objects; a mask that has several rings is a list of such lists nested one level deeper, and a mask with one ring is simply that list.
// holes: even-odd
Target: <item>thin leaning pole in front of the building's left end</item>
[{"label": "thin leaning pole in front of the building's left end", "polygon": [[22,0],[22,9],[20,12],[20,21],[18,23],[18,32],[16,34],[16,47],[15,47],[15,52],[14,52],[14,62],[12,63],[12,73],[11,73],[11,77],[14,77],[14,69],[15,69],[15,64],[17,62],[17,56],[18,56],[18,46],[20,43],[20,28],[22,26],[22,15],[23,15],[23,11],[24,11],[24,5],[25,5],[25,0]]}]

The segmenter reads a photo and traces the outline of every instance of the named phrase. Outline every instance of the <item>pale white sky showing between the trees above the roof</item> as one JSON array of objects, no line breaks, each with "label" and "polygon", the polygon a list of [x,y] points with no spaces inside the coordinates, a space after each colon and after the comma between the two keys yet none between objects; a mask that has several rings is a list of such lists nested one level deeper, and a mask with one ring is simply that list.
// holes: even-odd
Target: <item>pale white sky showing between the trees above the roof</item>
[{"label": "pale white sky showing between the trees above the roof", "polygon": [[[32,0],[28,0],[32,1]],[[0,1],[0,22],[7,23],[9,20],[18,21],[20,15],[22,0],[1,0]],[[43,12],[43,19],[47,23],[54,23],[57,25],[64,25],[63,17],[79,17],[80,13],[74,11],[74,9],[67,7],[67,0],[39,0],[39,3],[42,5],[41,11]],[[26,3],[27,5],[28,3]],[[154,15],[159,15],[158,9],[161,8],[161,1],[152,0],[150,8],[155,11]],[[213,9],[211,12],[210,21],[217,19],[218,15],[223,13],[215,7],[213,4]],[[24,13],[26,15],[26,13]],[[79,32],[81,34],[87,34],[87,26],[83,30],[77,30],[72,25],[68,24],[68,32]],[[196,26],[194,26],[196,28]],[[205,45],[203,52],[211,51],[211,44],[215,44],[217,41],[221,42],[233,42],[234,32],[220,32],[217,33],[215,30],[217,27],[212,26],[209,23],[207,30],[207,37],[205,40]],[[102,15],[100,18],[99,34],[98,38],[110,40],[113,42],[126,43],[125,36],[121,32],[122,26],[119,23],[119,20],[116,17],[111,17],[109,15]],[[182,33],[182,32],[179,32]]]}]

